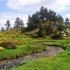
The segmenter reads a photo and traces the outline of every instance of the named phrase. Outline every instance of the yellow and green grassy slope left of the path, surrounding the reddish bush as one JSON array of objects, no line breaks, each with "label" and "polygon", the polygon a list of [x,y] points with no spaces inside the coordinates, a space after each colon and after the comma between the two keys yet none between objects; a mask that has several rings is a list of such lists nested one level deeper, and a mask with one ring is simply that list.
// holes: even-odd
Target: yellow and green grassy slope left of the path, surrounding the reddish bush
[{"label": "yellow and green grassy slope left of the path, surrounding the reddish bush", "polygon": [[28,36],[21,34],[17,29],[11,29],[10,31],[0,32],[0,43],[3,41],[16,42],[16,49],[6,49],[0,52],[0,60],[12,59],[16,57],[24,56],[25,54],[35,53],[45,49],[42,46],[33,45],[38,39],[29,38]]}]

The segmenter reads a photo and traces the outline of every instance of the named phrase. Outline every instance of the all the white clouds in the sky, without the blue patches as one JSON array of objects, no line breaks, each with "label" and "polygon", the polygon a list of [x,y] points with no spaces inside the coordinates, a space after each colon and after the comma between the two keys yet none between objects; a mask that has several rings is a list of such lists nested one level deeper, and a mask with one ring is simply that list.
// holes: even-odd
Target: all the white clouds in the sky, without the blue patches
[{"label": "all the white clouds in the sky, without the blue patches", "polygon": [[[5,1],[5,0],[0,0]],[[44,6],[48,9],[52,9],[56,12],[62,12],[66,9],[70,9],[67,6],[70,5],[70,0],[7,0],[6,5],[10,9],[15,9],[17,11],[28,12],[27,14],[18,14],[14,12],[3,12],[0,13],[0,28],[4,26],[7,19],[11,21],[13,26],[15,18],[20,17],[24,23],[27,22],[27,17],[29,12],[36,12],[40,9],[41,6]],[[32,14],[31,13],[31,14]],[[65,17],[70,17],[70,14],[65,15]]]}]

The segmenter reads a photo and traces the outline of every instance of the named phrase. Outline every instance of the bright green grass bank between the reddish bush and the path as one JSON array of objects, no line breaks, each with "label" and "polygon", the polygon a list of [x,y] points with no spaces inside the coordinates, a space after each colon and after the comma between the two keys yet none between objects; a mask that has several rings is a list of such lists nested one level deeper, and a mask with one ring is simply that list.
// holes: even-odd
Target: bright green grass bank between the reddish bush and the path
[{"label": "bright green grass bank between the reddish bush and the path", "polygon": [[42,51],[45,47],[34,45],[18,45],[17,49],[6,49],[0,52],[0,60],[24,56],[25,54]]}]

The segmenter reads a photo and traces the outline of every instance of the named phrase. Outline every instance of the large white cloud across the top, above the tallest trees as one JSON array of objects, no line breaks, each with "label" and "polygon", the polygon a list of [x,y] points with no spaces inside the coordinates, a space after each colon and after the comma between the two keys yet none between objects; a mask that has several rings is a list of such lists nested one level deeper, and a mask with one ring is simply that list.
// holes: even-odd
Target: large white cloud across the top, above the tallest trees
[{"label": "large white cloud across the top, above the tallest trees", "polygon": [[57,12],[67,9],[70,0],[8,0],[7,6],[11,9],[37,11],[41,6]]}]

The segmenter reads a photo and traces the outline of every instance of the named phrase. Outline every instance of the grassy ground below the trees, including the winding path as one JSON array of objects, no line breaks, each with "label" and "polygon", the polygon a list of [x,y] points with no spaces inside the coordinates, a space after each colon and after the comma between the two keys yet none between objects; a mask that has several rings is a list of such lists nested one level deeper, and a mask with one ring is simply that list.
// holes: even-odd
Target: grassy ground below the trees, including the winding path
[{"label": "grassy ground below the trees, including the winding path", "polygon": [[[15,28],[0,32],[0,43],[16,43],[16,49],[5,47],[4,50],[0,49],[0,70],[2,68],[4,70],[6,68],[13,70],[70,69],[70,40],[31,38],[30,36],[35,35],[36,31],[22,34]],[[4,65],[6,68],[3,67]]]}]

